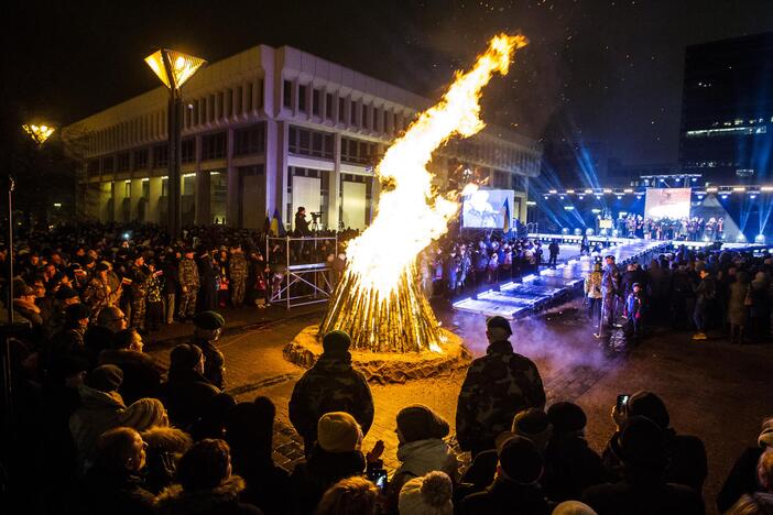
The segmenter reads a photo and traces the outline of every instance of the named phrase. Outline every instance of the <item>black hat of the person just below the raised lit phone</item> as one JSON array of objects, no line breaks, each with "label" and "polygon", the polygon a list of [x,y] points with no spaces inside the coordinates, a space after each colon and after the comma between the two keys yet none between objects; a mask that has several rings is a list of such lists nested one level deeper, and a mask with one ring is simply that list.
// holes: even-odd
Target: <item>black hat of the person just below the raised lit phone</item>
[{"label": "black hat of the person just below the raised lit phone", "polygon": [[663,429],[646,417],[629,417],[612,449],[627,465],[662,468],[666,464]]}]

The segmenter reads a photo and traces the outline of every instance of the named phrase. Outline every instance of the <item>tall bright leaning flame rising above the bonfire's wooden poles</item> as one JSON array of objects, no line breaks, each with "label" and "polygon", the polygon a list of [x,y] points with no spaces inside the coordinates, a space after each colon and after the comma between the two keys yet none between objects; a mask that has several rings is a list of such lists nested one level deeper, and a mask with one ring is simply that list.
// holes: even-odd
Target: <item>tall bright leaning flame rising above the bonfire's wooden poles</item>
[{"label": "tall bright leaning flame rising above the bonfire's wooden poles", "polygon": [[451,135],[468,138],[483,129],[481,88],[496,72],[505,75],[512,53],[525,44],[523,36],[492,39],[472,70],[457,73],[443,99],[386,151],[377,174],[382,182],[393,182],[394,189],[381,194],[378,216],[347,251],[348,273],[360,275],[363,286],[388,295],[416,255],[447,231],[459,206],[451,198],[433,197],[426,165],[433,151]]}]

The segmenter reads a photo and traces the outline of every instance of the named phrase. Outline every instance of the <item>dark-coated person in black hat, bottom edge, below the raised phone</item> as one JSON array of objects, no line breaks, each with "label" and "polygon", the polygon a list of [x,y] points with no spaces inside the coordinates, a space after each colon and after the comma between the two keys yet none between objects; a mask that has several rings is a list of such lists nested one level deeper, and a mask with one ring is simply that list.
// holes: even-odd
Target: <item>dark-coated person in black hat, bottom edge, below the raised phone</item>
[{"label": "dark-coated person in black hat, bottom edge, below the raised phone", "polygon": [[599,515],[629,513],[679,513],[703,515],[700,494],[684,484],[668,483],[668,453],[663,429],[643,416],[628,417],[618,438],[618,456],[624,468],[614,484],[590,486],[583,502]]}]

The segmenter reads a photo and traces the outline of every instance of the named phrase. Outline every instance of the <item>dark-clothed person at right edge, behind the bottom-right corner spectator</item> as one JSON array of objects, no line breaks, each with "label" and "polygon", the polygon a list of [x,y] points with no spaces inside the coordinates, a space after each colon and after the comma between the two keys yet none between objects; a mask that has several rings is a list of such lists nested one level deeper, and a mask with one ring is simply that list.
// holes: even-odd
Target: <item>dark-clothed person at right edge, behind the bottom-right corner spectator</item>
[{"label": "dark-clothed person at right edge, behind the bottom-right corner spectator", "polygon": [[717,508],[725,513],[744,494],[762,491],[758,480],[756,465],[763,452],[773,449],[773,417],[762,421],[762,430],[756,439],[756,446],[748,447],[741,452],[725,479],[717,495]]}]

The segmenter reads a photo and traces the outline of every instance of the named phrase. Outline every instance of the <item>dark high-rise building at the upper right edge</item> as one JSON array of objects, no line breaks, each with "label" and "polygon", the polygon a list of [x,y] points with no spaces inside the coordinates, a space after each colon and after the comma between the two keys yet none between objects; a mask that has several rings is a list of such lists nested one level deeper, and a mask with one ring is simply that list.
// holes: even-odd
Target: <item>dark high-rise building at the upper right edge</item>
[{"label": "dark high-rise building at the upper right edge", "polygon": [[687,47],[679,162],[704,182],[773,173],[773,33]]}]

